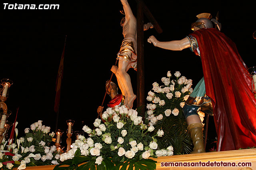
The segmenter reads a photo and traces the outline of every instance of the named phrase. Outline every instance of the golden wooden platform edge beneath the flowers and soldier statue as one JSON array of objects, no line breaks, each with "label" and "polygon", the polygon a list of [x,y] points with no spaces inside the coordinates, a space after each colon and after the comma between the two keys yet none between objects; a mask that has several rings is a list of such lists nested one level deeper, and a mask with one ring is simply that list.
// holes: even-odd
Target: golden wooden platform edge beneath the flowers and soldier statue
[{"label": "golden wooden platform edge beneath the flowers and soldier statue", "polygon": [[[242,149],[242,150],[229,150],[229,151],[221,151],[221,152],[207,152],[200,154],[185,154],[185,155],[173,155],[173,156],[161,156],[158,158],[152,158],[157,161],[156,170],[243,170],[245,167],[249,167],[248,170],[256,169],[256,149]],[[223,164],[230,162],[232,164],[236,164],[236,166],[186,166],[186,167],[178,167],[178,166],[161,166],[164,163],[173,162],[178,164],[177,162],[186,162],[186,163],[195,163],[195,162],[223,162]],[[242,164],[246,164],[246,162],[250,162],[251,166],[242,166]],[[229,164],[230,164],[229,163]],[[241,166],[238,166],[238,163]],[[247,164],[248,165],[248,164]],[[26,170],[53,170],[55,165],[46,165],[46,166],[28,166]],[[17,168],[13,168],[13,170],[17,170]]]}]

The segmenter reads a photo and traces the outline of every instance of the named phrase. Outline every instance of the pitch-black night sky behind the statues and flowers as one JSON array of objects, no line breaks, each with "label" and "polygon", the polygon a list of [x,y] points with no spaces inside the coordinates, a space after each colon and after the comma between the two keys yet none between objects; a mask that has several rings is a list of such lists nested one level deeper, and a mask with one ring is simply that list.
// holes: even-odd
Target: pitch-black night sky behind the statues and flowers
[{"label": "pitch-black night sky behind the statues and flowers", "polygon": [[[136,16],[136,1],[128,2]],[[180,71],[192,79],[193,88],[202,78],[200,59],[189,49],[168,51],[146,41],[150,35],[159,41],[183,39],[192,32],[190,24],[202,12],[211,13],[215,18],[219,11],[221,31],[236,43],[248,67],[256,65],[256,40],[252,37],[256,30],[254,4],[241,2],[212,7],[164,0],[145,0],[145,3],[163,29],[161,34],[154,29],[144,32],[145,94],[153,82],[161,82],[168,70]],[[65,2],[60,3],[59,10],[3,10],[1,6],[0,78],[14,82],[6,101],[12,111],[8,120],[14,121],[19,107],[17,121],[21,133],[38,120],[55,130],[55,82],[67,35],[58,128],[66,130],[68,119],[76,121],[75,131],[82,129],[82,121],[92,127],[123,39],[121,2]],[[146,17],[144,22],[148,22]],[[136,71],[130,69],[128,73],[136,93]],[[106,96],[105,103],[109,100]],[[136,101],[134,103],[136,106]]]}]

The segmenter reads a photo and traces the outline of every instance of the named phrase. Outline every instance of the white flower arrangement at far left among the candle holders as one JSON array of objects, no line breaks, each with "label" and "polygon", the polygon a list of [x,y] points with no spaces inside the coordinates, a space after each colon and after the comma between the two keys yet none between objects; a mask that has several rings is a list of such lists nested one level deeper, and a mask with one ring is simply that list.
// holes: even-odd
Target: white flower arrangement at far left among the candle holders
[{"label": "white flower arrangement at far left among the candle holders", "polygon": [[59,164],[60,154],[56,146],[51,145],[55,134],[49,132],[50,127],[42,125],[41,120],[26,128],[24,137],[18,138],[18,129],[15,128],[15,139],[3,139],[0,145],[0,169],[18,167],[18,170],[23,170],[26,166]]}]

